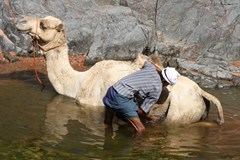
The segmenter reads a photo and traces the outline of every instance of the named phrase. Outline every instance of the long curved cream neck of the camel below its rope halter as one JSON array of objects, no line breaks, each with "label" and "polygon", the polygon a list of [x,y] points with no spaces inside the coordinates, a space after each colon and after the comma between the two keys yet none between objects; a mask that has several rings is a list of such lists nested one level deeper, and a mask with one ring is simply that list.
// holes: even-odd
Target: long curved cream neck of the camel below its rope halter
[{"label": "long curved cream neck of the camel below its rope halter", "polygon": [[75,71],[68,58],[68,46],[49,50],[46,53],[46,65],[49,80],[59,94],[76,97],[84,72]]}]

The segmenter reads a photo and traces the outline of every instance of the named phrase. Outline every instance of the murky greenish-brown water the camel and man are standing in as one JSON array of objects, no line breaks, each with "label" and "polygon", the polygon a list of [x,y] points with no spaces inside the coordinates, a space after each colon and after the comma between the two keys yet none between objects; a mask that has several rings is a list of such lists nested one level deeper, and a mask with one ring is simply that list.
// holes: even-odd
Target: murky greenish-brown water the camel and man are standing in
[{"label": "murky greenish-brown water the camel and man are standing in", "polygon": [[240,89],[208,90],[224,106],[225,124],[147,125],[105,135],[103,114],[59,96],[50,84],[0,80],[0,159],[240,159]]}]

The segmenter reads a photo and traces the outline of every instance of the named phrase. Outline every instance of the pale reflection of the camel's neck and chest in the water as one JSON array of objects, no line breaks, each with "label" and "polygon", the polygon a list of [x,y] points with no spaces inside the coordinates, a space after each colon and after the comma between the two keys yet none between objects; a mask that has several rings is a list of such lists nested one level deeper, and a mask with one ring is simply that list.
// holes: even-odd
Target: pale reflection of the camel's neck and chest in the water
[{"label": "pale reflection of the camel's neck and chest in the water", "polygon": [[82,125],[81,132],[103,137],[103,114],[104,107],[79,106],[74,99],[57,95],[47,105],[45,127],[48,140],[54,143],[63,140],[69,133],[68,124],[71,121]]}]

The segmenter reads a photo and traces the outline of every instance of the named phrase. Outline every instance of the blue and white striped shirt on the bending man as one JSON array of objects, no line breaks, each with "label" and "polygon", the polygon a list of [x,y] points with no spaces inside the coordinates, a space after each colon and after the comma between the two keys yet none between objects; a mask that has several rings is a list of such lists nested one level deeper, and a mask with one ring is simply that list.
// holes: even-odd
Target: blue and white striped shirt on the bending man
[{"label": "blue and white striped shirt on the bending man", "polygon": [[144,99],[140,107],[145,113],[148,113],[159,99],[162,92],[162,81],[156,68],[146,61],[140,71],[120,79],[113,85],[113,88],[128,98],[134,98],[134,94],[139,92]]}]

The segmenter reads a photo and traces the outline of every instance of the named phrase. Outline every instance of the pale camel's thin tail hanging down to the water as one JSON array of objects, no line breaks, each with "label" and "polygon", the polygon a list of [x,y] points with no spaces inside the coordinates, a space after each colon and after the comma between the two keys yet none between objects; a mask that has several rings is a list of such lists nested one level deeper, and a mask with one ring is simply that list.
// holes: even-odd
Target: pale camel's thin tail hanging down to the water
[{"label": "pale camel's thin tail hanging down to the water", "polygon": [[202,90],[202,96],[212,102],[213,104],[216,105],[217,110],[218,110],[218,123],[221,125],[224,123],[224,117],[223,117],[223,108],[220,103],[220,101],[213,95],[207,93],[206,91]]}]

